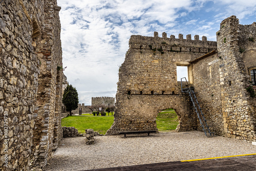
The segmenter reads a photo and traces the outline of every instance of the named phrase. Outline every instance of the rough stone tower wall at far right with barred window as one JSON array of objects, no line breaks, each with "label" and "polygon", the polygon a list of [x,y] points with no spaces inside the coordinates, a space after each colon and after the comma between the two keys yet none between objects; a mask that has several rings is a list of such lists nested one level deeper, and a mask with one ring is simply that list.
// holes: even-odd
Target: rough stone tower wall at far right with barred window
[{"label": "rough stone tower wall at far right with barred window", "polygon": [[256,64],[248,54],[256,46],[249,37],[255,39],[255,23],[239,25],[236,16],[223,20],[217,32],[225,136],[255,141],[255,98],[249,96],[246,86],[250,84],[248,67]]}]

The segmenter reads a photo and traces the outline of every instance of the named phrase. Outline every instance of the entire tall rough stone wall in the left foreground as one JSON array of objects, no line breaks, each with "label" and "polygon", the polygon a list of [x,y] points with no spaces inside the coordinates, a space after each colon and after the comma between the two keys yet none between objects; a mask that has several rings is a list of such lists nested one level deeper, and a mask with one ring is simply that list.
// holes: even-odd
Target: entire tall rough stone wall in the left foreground
[{"label": "entire tall rough stone wall in the left foreground", "polygon": [[41,170],[61,139],[56,0],[0,5],[0,170]]}]

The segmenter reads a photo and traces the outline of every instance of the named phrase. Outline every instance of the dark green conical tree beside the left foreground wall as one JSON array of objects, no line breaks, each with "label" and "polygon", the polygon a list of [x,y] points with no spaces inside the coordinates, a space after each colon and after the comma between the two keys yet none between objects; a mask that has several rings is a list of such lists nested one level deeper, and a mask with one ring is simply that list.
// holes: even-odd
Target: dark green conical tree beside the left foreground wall
[{"label": "dark green conical tree beside the left foreground wall", "polygon": [[66,106],[67,112],[69,112],[70,115],[72,110],[75,110],[78,108],[78,93],[76,91],[76,88],[73,88],[73,86],[70,84],[67,86],[67,88],[64,90],[62,103]]}]

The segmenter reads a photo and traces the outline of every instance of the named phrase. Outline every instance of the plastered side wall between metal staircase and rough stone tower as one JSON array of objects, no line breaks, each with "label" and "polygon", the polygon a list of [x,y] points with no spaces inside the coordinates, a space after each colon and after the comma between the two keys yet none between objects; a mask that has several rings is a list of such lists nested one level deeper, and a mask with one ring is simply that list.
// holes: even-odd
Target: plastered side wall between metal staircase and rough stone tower
[{"label": "plastered side wall between metal staircase and rough stone tower", "polygon": [[[193,86],[205,114],[209,129],[216,135],[224,135],[221,90],[220,58],[217,52],[204,55],[200,60],[190,62],[193,68]],[[198,122],[200,123],[200,122]],[[199,125],[200,126],[200,125]]]}]

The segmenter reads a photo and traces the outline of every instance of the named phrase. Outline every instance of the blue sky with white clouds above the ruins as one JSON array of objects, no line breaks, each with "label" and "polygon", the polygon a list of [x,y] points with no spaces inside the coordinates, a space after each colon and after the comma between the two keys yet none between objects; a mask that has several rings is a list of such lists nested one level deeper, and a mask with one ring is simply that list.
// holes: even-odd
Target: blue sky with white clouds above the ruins
[{"label": "blue sky with white clouds above the ruins", "polygon": [[61,7],[64,74],[79,94],[115,97],[118,67],[124,61],[131,35],[154,31],[216,41],[223,19],[236,15],[240,24],[256,22],[255,0],[57,0]]}]

